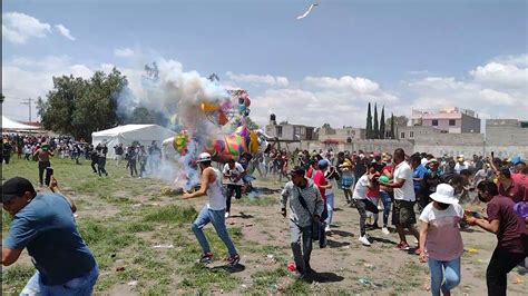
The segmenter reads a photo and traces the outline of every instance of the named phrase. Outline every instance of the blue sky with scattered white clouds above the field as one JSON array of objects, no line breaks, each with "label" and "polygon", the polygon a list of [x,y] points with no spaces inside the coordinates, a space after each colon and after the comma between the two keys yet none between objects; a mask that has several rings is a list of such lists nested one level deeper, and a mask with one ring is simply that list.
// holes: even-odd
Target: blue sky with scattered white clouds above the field
[{"label": "blue sky with scattered white clouds above the field", "polygon": [[[303,124],[363,125],[368,101],[404,115],[457,103],[482,117],[527,119],[519,111],[528,109],[527,1],[321,0],[296,20],[311,2],[3,1],[2,24],[18,12],[50,26],[23,42],[2,27],[2,91],[13,98],[4,114],[25,119],[26,107],[13,101],[43,96],[52,75],[115,65],[133,76],[163,58],[248,89],[260,122],[275,112]],[[9,26],[35,29],[18,18]],[[311,103],[295,108],[300,101]]]}]

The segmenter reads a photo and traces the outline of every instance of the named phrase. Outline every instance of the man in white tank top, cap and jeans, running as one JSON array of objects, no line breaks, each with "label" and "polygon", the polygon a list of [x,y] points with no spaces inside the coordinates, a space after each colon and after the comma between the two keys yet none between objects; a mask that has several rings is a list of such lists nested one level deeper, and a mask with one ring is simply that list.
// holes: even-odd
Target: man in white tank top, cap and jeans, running
[{"label": "man in white tank top, cap and jeans, running", "polygon": [[198,156],[198,166],[202,169],[202,182],[199,189],[189,194],[184,191],[184,199],[199,197],[207,195],[209,197],[209,203],[202,208],[198,214],[198,217],[193,223],[193,231],[198,239],[202,250],[204,251],[201,263],[209,264],[213,260],[213,253],[211,253],[209,243],[205,237],[203,228],[212,223],[216,229],[216,234],[224,241],[229,257],[226,258],[227,263],[231,266],[236,266],[241,260],[241,256],[231,240],[229,234],[225,227],[225,204],[226,198],[222,188],[222,175],[219,170],[211,166],[211,155],[203,152]]}]

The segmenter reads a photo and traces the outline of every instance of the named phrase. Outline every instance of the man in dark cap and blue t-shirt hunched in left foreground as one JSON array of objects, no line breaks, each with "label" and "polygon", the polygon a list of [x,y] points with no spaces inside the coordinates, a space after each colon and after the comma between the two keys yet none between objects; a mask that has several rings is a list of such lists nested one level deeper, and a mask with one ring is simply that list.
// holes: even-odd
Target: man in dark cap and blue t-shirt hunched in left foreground
[{"label": "man in dark cap and blue t-shirt hunched in left foreground", "polygon": [[37,268],[21,295],[91,295],[99,270],[77,230],[71,200],[60,194],[37,194],[20,177],[7,180],[1,191],[3,209],[12,216],[2,265],[17,262],[27,248]]}]

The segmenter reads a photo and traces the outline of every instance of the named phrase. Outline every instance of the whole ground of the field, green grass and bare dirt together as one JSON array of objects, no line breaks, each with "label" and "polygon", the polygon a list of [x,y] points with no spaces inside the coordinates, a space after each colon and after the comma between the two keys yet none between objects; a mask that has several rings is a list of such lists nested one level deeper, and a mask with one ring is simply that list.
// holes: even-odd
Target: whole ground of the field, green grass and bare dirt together
[{"label": "whole ground of the field, green grass and bare dirt together", "polygon": [[[91,172],[88,161],[75,165],[69,159],[52,159],[61,190],[77,204],[77,223],[100,268],[98,295],[427,295],[427,265],[414,255],[392,250],[397,236],[372,231],[370,248],[356,239],[358,213],[336,197],[335,226],[329,247],[314,248],[312,267],[317,278],[296,282],[286,269],[292,262],[287,220],[278,215],[276,193],[281,185],[272,179],[260,186],[274,190],[256,198],[233,200],[229,234],[242,255],[241,265],[228,268],[223,243],[206,227],[215,253],[211,266],[197,264],[201,248],[190,230],[205,198],[183,200],[165,196],[166,184],[127,176],[124,167],[109,161],[109,177]],[[37,164],[12,159],[3,165],[4,179],[22,176],[38,184]],[[46,191],[47,188],[38,188]],[[2,211],[2,235],[10,217]],[[487,260],[495,247],[492,235],[480,230],[463,234],[467,248],[478,249],[462,257],[462,284],[454,295],[483,295]],[[412,241],[412,240],[411,240]],[[170,248],[154,248],[172,245]],[[2,294],[18,295],[35,273],[29,256],[22,253],[13,266],[2,269]],[[520,278],[520,279],[519,279]],[[512,284],[514,283],[514,284]],[[509,276],[509,294],[528,289],[526,276]]]}]

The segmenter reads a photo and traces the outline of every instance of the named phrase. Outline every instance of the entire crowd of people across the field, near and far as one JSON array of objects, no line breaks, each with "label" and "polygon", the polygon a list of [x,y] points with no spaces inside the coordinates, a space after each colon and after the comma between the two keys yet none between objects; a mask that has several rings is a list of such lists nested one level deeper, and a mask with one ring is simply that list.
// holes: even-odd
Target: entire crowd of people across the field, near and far
[{"label": "entire crowd of people across the field, near and far", "polygon": [[[9,146],[16,147],[14,150],[6,149]],[[108,176],[105,167],[109,148],[106,142],[94,147],[66,137],[4,137],[2,160],[9,164],[6,155],[18,152],[20,147],[22,154],[28,147],[29,160],[38,161],[40,185],[49,186],[52,193],[37,193],[27,179],[19,177],[3,182],[2,206],[13,220],[2,248],[2,264],[11,265],[28,248],[38,272],[25,290],[61,293],[61,288],[70,285],[78,289],[78,295],[89,295],[98,276],[97,263],[75,226],[75,204],[58,190],[50,158],[71,157],[77,161],[84,155],[91,160],[95,174]],[[126,160],[133,177],[148,176],[162,161],[155,141],[147,148],[117,145],[113,149],[116,165]],[[343,203],[358,210],[359,224],[353,227],[358,229],[359,244],[365,247],[372,244],[369,235],[372,229],[381,229],[387,236],[395,229],[399,241],[393,248],[413,253],[420,262],[428,263],[432,295],[450,295],[461,282],[460,231],[466,227],[476,226],[497,235],[498,244],[486,274],[489,295],[506,295],[507,274],[528,255],[528,170],[519,157],[499,159],[491,155],[466,159],[461,155],[407,155],[402,149],[392,154],[339,151],[334,155],[332,150],[296,149],[271,150],[255,157],[242,155],[222,169],[212,166],[212,157],[206,152],[196,162],[202,172],[199,188],[184,191],[183,197],[208,197],[192,224],[203,250],[199,262],[204,264],[214,257],[203,231],[209,223],[228,250],[228,265],[235,266],[241,260],[225,219],[229,217],[232,197],[238,199],[247,193],[246,187],[254,179],[252,168],[262,176],[271,174],[286,180],[280,199],[281,214],[286,217],[290,213],[290,243],[301,279],[315,273],[310,263],[313,243],[319,240],[319,246],[324,248],[325,236],[332,235],[338,190],[343,191]],[[462,208],[476,204],[486,204],[486,210]],[[48,227],[50,217],[57,218],[51,219],[52,228]],[[405,230],[414,237],[414,246],[408,241]],[[59,253],[42,251],[56,239],[69,244],[61,245],[63,249]]]}]

